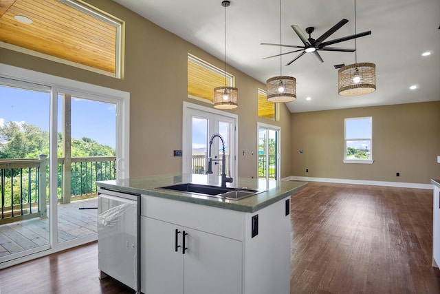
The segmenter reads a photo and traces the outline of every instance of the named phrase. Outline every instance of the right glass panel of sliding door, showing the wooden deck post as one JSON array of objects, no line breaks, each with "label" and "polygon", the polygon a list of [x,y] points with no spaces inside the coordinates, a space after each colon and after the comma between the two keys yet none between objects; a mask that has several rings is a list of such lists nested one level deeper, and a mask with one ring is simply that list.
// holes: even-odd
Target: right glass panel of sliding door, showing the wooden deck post
[{"label": "right glass panel of sliding door, showing the wooden deck post", "polygon": [[97,180],[116,178],[116,105],[58,94],[58,242],[97,230]]}]

